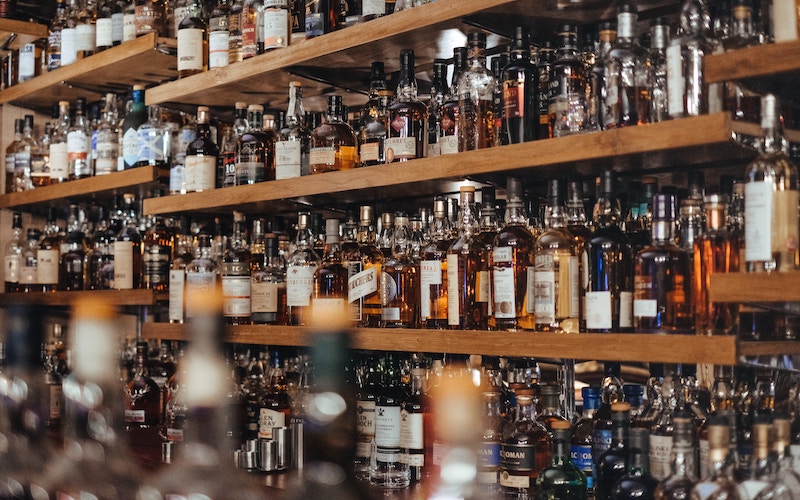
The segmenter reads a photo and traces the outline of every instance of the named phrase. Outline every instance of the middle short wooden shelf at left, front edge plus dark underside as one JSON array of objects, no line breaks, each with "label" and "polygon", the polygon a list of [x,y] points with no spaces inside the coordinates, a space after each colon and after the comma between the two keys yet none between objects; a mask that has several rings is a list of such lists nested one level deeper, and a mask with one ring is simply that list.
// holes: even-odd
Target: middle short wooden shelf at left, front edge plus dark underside
[{"label": "middle short wooden shelf at left, front edge plus dark underside", "polygon": [[157,185],[159,179],[164,179],[168,175],[166,170],[159,170],[156,167],[133,168],[21,193],[0,195],[0,208],[43,212],[50,204],[108,200],[112,195],[122,192],[132,192],[142,196],[148,189]]}]

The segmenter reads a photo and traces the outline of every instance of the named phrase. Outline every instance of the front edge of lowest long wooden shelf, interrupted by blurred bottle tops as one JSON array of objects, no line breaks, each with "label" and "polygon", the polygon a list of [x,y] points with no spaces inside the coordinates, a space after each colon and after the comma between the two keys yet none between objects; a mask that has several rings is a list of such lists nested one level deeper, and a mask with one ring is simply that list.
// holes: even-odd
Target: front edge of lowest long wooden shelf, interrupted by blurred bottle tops
[{"label": "front edge of lowest long wooden shelf, interrupted by blurred bottle tops", "polygon": [[[188,328],[185,331],[190,331]],[[145,323],[145,338],[190,340],[182,325]],[[734,337],[651,334],[555,334],[464,330],[364,328],[352,332],[355,349],[447,352],[491,356],[736,364]],[[312,330],[287,326],[229,327],[226,341],[242,344],[307,346]],[[800,344],[800,343],[798,343]]]}]

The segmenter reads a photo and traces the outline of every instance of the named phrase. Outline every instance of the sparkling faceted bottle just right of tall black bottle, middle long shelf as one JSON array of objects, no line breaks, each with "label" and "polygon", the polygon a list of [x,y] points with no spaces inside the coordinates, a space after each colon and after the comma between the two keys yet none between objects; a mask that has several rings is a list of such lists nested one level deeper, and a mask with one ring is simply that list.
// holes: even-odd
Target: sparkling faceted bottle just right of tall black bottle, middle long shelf
[{"label": "sparkling faceted bottle just right of tall black bottle, middle long shelf", "polygon": [[589,126],[586,72],[578,53],[577,26],[562,26],[558,38],[547,98],[553,137],[580,133]]}]

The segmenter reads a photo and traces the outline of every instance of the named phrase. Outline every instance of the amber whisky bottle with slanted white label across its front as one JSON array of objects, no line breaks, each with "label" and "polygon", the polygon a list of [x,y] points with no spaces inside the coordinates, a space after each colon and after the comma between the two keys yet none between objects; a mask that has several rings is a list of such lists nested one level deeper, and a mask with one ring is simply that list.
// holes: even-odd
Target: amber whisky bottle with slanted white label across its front
[{"label": "amber whisky bottle with slanted white label across its front", "polygon": [[383,253],[375,245],[374,209],[359,207],[358,248],[347,260],[347,302],[350,320],[362,327],[380,326]]}]

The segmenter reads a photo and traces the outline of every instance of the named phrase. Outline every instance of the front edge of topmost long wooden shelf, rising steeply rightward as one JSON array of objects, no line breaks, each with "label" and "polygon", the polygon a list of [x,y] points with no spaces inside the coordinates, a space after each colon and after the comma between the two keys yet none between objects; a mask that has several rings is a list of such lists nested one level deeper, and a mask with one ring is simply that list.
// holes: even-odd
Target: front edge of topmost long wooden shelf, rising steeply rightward
[{"label": "front edge of topmost long wooden shelf, rising steeply rightward", "polygon": [[[184,96],[201,93],[203,89],[211,86],[232,84],[271,71],[283,71],[290,66],[307,63],[335,52],[353,49],[375,40],[401,35],[422,27],[453,21],[514,1],[517,0],[439,0],[431,2],[408,11],[359,24],[352,29],[345,28],[323,36],[301,40],[288,47],[259,54],[224,68],[213,69],[159,85],[145,92],[145,102],[147,104],[185,103],[182,100]],[[233,104],[233,98],[231,104]]]}]

